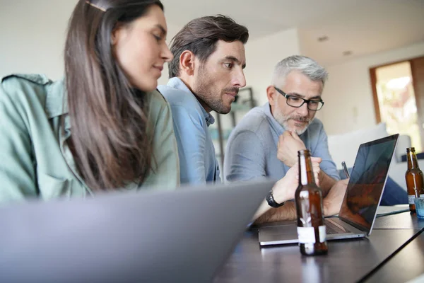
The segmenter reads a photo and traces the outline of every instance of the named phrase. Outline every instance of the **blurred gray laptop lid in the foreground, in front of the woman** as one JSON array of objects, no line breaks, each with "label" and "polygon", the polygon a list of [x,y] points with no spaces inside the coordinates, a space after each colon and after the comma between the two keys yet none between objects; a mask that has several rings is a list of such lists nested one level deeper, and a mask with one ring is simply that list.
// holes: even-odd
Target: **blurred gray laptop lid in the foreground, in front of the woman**
[{"label": "blurred gray laptop lid in the foreground, in front of the woman", "polygon": [[0,282],[211,282],[273,181],[0,208]]}]

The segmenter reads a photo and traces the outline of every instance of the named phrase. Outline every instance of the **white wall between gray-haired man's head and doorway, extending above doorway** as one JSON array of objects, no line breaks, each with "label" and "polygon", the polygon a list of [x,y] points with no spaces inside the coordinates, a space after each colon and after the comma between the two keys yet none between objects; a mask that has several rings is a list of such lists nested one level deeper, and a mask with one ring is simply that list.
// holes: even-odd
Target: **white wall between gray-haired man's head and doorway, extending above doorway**
[{"label": "white wall between gray-haired man's head and doorway, extending above doorway", "polygon": [[376,124],[370,67],[424,55],[424,42],[329,66],[321,119],[327,134],[341,134]]}]

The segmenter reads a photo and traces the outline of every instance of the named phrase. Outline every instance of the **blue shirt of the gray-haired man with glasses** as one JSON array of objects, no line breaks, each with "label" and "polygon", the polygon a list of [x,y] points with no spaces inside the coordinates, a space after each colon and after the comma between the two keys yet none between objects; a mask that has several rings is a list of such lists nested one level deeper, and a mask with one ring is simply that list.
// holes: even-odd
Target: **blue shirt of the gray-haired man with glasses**
[{"label": "blue shirt of the gray-haired man with glasses", "polygon": [[[278,137],[285,129],[271,114],[269,103],[250,110],[231,132],[225,150],[224,175],[229,181],[269,177],[279,180],[290,167],[277,158]],[[311,156],[321,157],[319,167],[340,180],[331,159],[327,135],[322,122],[315,118],[300,135]]]}]

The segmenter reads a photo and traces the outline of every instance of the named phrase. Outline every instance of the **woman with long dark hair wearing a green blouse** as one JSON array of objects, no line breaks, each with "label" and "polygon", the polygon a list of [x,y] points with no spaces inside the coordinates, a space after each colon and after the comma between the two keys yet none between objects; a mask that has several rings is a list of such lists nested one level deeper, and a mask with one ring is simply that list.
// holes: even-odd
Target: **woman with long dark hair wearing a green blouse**
[{"label": "woman with long dark hair wearing a green blouse", "polygon": [[155,90],[172,59],[166,32],[159,0],[80,0],[64,79],[2,79],[1,202],[179,185],[170,107]]}]

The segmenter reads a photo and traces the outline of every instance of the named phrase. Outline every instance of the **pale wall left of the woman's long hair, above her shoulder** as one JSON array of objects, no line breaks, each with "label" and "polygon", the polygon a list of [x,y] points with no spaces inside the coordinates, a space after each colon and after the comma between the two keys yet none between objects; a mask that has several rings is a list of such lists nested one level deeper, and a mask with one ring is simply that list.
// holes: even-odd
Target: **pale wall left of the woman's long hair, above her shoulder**
[{"label": "pale wall left of the woman's long hair, above her shoulder", "polygon": [[64,74],[66,26],[77,0],[0,1],[0,77],[11,73]]}]

